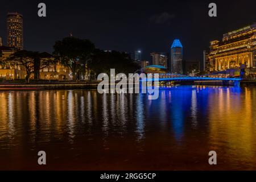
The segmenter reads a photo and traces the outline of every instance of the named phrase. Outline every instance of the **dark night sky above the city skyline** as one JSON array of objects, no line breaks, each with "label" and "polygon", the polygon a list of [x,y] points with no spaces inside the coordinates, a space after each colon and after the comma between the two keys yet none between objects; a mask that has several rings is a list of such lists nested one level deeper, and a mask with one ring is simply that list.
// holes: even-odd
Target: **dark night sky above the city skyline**
[{"label": "dark night sky above the city skyline", "polygon": [[[38,3],[47,6],[47,17],[38,17]],[[210,2],[217,18],[208,16]],[[256,22],[256,1],[1,1],[0,36],[6,44],[6,14],[23,14],[24,48],[52,52],[55,40],[71,32],[90,39],[97,48],[134,52],[142,59],[150,52],[170,52],[175,38],[184,47],[184,59],[202,59],[210,40]]]}]

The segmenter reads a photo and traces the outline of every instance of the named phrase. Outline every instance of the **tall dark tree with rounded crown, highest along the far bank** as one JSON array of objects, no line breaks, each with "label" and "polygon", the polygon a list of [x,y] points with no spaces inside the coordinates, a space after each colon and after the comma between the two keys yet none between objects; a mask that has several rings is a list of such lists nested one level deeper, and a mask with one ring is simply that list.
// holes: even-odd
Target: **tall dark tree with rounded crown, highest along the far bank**
[{"label": "tall dark tree with rounded crown, highest along the far bank", "polygon": [[71,69],[73,80],[77,80],[80,73],[85,71],[85,65],[90,60],[94,48],[90,40],[71,36],[55,42],[53,55],[60,59],[61,64]]}]

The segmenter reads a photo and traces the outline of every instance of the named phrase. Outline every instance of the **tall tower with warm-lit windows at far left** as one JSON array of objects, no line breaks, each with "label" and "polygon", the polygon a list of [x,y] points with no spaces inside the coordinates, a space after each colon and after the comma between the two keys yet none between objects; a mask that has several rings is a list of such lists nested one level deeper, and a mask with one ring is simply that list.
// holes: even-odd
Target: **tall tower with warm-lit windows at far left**
[{"label": "tall tower with warm-lit windows at far left", "polygon": [[7,14],[7,46],[23,49],[23,18],[21,14]]}]

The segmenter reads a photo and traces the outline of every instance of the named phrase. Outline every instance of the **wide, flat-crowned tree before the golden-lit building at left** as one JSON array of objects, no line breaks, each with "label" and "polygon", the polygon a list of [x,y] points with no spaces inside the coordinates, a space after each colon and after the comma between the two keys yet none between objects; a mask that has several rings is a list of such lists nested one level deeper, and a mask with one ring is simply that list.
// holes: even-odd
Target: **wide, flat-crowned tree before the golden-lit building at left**
[{"label": "wide, flat-crowned tree before the golden-lit building at left", "polygon": [[49,67],[49,65],[56,63],[55,59],[49,53],[46,52],[34,52],[34,51],[17,51],[9,57],[9,60],[14,60],[18,65],[23,65],[26,69],[27,75],[25,80],[30,82],[32,73],[38,79],[40,69]]}]

